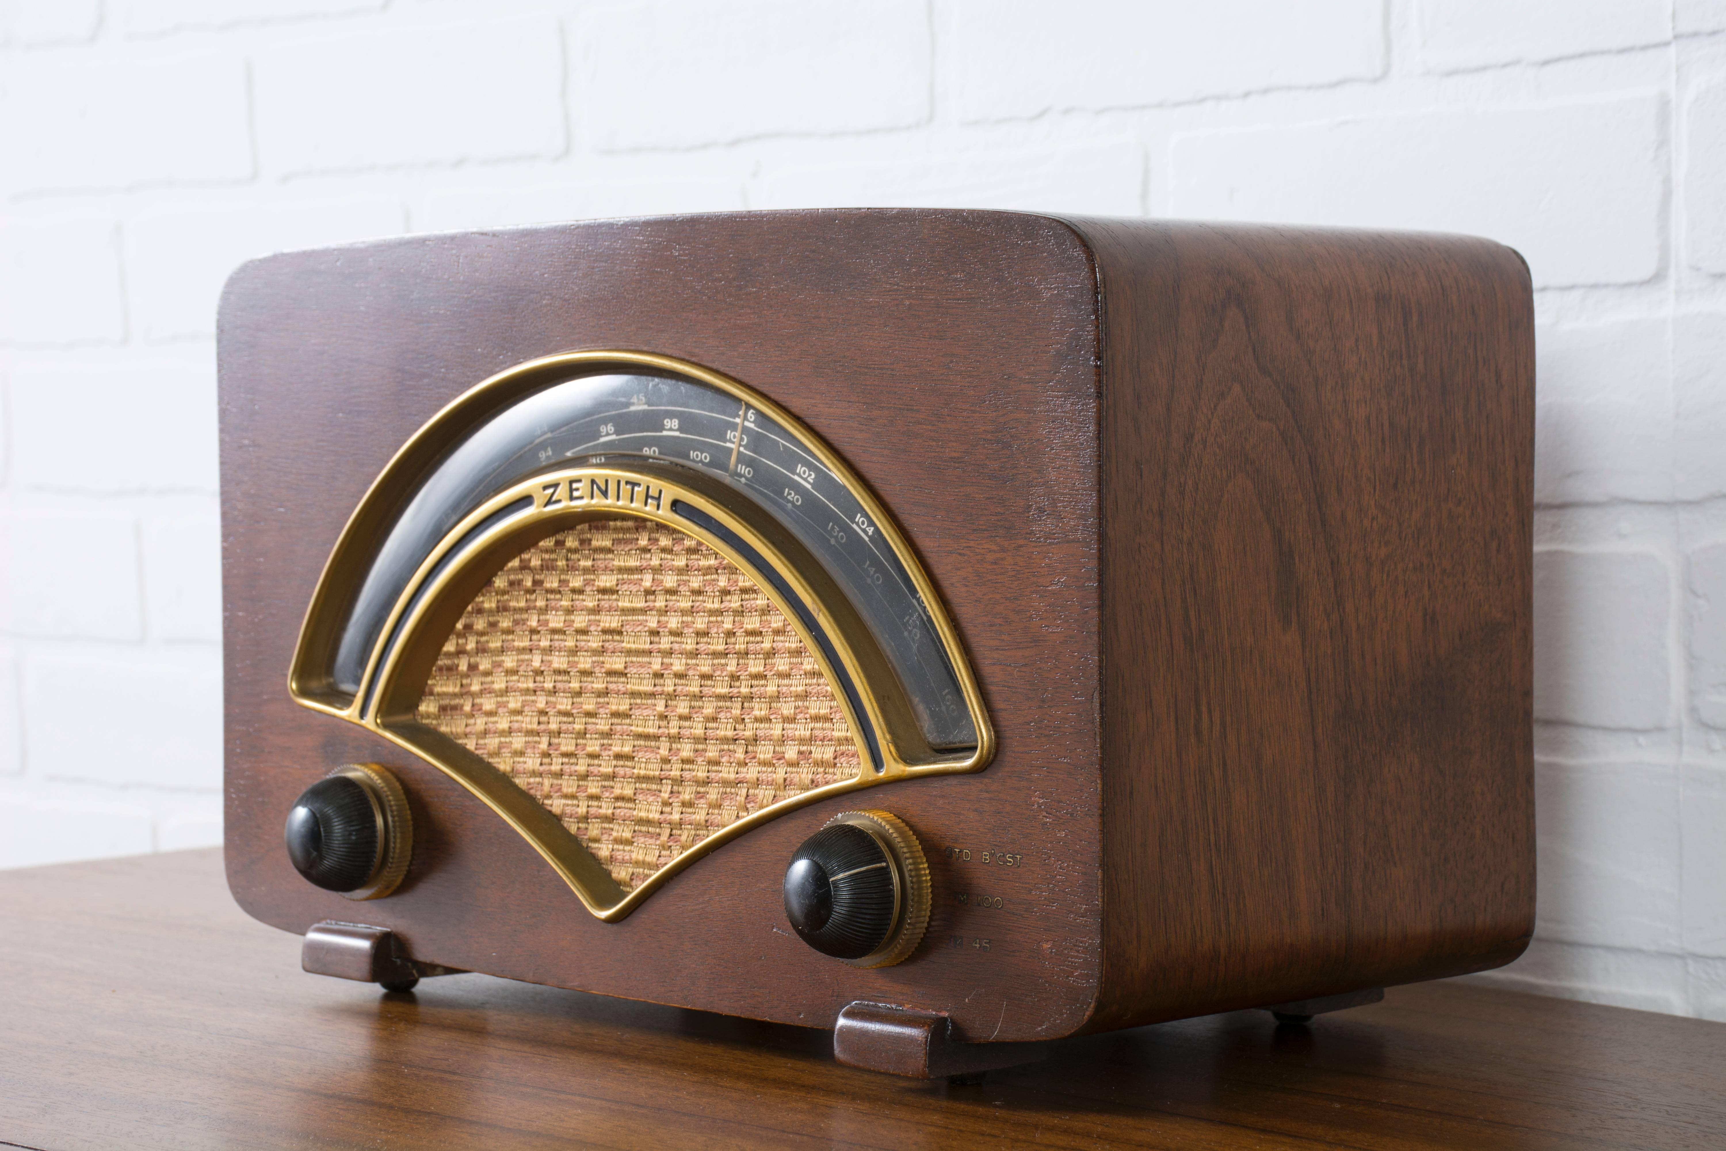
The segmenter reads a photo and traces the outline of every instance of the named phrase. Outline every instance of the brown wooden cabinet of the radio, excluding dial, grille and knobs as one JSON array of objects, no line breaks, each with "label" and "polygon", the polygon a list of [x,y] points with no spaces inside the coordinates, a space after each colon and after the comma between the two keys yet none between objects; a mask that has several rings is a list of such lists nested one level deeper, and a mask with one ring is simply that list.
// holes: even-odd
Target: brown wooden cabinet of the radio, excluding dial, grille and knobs
[{"label": "brown wooden cabinet of the radio, excluding dial, grille and knobs", "polygon": [[[1029,1042],[1526,942],[1533,330],[1509,248],[671,217],[271,257],[219,331],[228,871],[268,923],[352,918],[280,827],[311,780],[376,759],[418,842],[364,915],[416,959],[763,1020],[873,1001]],[[318,573],[394,449],[482,378],[583,347],[727,373],[846,457],[970,652],[986,771],[784,816],[608,925],[444,775],[290,702]],[[901,816],[934,870],[929,942],[872,972],[780,906],[796,844],[856,806]]]}]

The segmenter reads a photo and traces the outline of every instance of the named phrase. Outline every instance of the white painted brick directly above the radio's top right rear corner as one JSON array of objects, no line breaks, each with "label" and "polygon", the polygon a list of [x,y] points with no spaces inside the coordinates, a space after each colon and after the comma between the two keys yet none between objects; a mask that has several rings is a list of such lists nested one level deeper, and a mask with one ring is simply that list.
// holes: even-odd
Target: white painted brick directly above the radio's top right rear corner
[{"label": "white painted brick directly above the radio's top right rear corner", "polygon": [[1172,209],[1465,231],[1512,243],[1543,288],[1641,283],[1662,257],[1662,109],[1636,93],[1181,135]]}]

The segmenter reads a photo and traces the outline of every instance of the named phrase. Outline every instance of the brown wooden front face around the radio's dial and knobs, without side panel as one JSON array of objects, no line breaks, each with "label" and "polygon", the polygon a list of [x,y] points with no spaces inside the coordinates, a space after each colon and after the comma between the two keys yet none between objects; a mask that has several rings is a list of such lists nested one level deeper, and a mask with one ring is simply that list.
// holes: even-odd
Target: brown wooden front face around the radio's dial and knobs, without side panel
[{"label": "brown wooden front face around the radio's dial and knobs, without side panel", "polygon": [[[428,963],[709,1011],[832,1027],[870,999],[951,1013],[967,1039],[1079,1028],[1099,970],[1096,338],[1086,247],[998,212],[618,221],[249,264],[219,323],[235,897],[292,932],[364,921]],[[620,923],[450,778],[287,690],[324,559],[395,449],[480,380],[594,347],[704,364],[820,433],[920,554],[998,735],[977,775],[794,811]],[[399,775],[414,823],[406,882],[371,903],[283,851],[295,796],[354,761]],[[929,940],[891,968],[816,954],[780,906],[799,840],[858,806],[901,816],[934,870]]]}]

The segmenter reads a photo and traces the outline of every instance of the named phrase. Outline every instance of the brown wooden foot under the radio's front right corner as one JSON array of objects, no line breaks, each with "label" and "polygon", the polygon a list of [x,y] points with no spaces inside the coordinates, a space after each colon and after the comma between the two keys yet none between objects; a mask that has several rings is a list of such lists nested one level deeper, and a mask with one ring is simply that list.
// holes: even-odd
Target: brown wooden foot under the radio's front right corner
[{"label": "brown wooden foot under the radio's front right corner", "polygon": [[1046,1042],[960,1042],[944,1015],[879,1003],[853,1003],[834,1028],[834,1058],[841,1063],[949,1084],[982,1082],[984,1072],[1034,1063],[1048,1051]]}]

